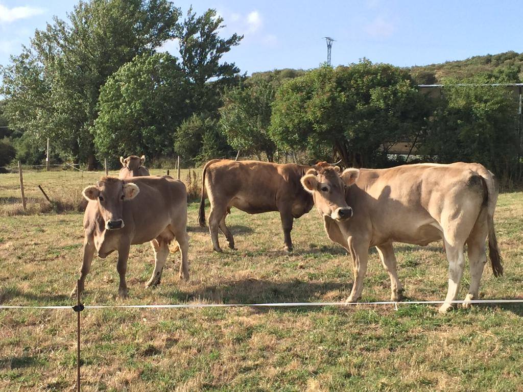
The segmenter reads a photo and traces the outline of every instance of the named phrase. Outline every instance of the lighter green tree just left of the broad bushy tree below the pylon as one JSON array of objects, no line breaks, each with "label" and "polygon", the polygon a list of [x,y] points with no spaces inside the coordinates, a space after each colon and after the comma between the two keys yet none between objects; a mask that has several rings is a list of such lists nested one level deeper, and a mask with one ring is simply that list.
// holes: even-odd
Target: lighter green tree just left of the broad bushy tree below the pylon
[{"label": "lighter green tree just left of the broad bushy tree below the pylon", "polygon": [[261,77],[251,77],[242,87],[226,90],[220,109],[220,126],[235,149],[272,162],[276,145],[269,137],[271,103],[275,88]]}]

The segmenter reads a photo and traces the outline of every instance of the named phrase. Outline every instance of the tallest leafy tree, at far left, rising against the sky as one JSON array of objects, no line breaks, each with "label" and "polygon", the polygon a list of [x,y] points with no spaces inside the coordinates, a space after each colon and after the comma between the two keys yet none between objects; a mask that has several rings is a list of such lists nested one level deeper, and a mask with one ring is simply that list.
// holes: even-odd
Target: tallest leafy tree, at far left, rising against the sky
[{"label": "tallest leafy tree, at far left, rising against the sky", "polygon": [[173,38],[179,13],[167,0],[91,0],[79,2],[67,21],[54,18],[2,71],[10,123],[51,137],[65,157],[92,168],[101,86],[121,65]]}]

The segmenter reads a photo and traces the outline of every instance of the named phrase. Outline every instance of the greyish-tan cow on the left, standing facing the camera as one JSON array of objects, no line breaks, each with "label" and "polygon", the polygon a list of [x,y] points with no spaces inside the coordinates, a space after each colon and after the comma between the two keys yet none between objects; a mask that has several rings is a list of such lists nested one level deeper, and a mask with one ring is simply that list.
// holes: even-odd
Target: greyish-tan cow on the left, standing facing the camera
[{"label": "greyish-tan cow on the left, standing facing the camera", "polygon": [[[169,244],[173,240],[181,250],[180,278],[189,279],[187,191],[183,182],[168,176],[132,180],[102,177],[82,193],[89,202],[84,214],[84,258],[78,285],[81,292],[95,251],[105,259],[117,250],[118,293],[127,296],[129,249],[131,245],[147,241],[153,247],[155,264],[146,286],[160,284]],[[73,290],[71,295],[75,292]]]}]

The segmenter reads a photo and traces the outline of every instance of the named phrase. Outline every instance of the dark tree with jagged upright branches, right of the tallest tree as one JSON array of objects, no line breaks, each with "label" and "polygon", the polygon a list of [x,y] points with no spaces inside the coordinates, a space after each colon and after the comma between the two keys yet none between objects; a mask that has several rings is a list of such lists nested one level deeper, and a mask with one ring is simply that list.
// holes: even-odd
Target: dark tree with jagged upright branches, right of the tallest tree
[{"label": "dark tree with jagged upright branches, right of the tallest tree", "polygon": [[[240,73],[234,63],[221,62],[221,58],[240,44],[243,36],[234,33],[227,39],[220,38],[223,27],[223,18],[214,9],[197,17],[192,7],[178,26],[181,64],[190,81],[195,113],[215,112],[220,106],[217,93],[224,86],[236,83]],[[208,83],[211,79],[212,83]]]}]

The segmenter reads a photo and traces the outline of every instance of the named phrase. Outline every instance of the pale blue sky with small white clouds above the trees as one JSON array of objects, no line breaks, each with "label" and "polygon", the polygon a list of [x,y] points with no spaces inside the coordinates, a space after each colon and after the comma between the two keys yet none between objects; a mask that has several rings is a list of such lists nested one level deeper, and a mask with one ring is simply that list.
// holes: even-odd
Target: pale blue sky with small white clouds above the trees
[{"label": "pale blue sky with small white clouds above the trees", "polygon": [[[19,54],[35,29],[76,1],[0,0],[0,64]],[[333,65],[373,62],[399,66],[460,60],[480,54],[523,52],[520,2],[487,1],[179,1],[198,13],[215,8],[225,36],[244,34],[224,57],[251,74],[275,68],[313,68],[326,60],[322,37],[333,37]],[[176,54],[176,42],[163,49]]]}]

